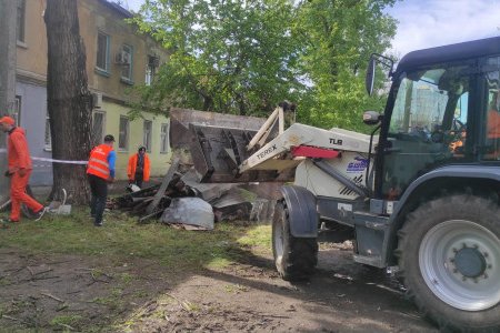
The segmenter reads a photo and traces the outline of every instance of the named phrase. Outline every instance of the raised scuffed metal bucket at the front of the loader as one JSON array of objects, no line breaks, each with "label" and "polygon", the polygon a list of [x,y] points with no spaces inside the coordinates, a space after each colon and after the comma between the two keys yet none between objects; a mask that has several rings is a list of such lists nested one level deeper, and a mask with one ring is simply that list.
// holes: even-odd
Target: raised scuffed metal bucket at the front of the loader
[{"label": "raised scuffed metal bucket at the front of the loader", "polygon": [[[247,145],[266,119],[202,112],[186,109],[170,111],[170,139],[172,148],[189,149],[200,182],[239,183],[290,181],[293,172],[253,170],[242,174],[238,167],[256,149]],[[269,135],[273,138],[277,133]]]}]

